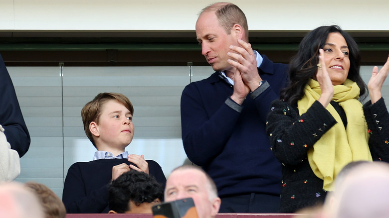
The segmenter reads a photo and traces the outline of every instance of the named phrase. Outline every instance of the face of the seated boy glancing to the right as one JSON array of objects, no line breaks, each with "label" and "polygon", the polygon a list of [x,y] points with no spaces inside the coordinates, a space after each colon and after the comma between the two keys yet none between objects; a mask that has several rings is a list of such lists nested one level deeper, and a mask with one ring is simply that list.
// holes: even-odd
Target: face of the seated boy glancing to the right
[{"label": "face of the seated boy glancing to the right", "polygon": [[98,148],[124,149],[134,137],[132,115],[118,101],[109,100],[102,106],[98,124],[91,132],[98,137],[95,139]]}]

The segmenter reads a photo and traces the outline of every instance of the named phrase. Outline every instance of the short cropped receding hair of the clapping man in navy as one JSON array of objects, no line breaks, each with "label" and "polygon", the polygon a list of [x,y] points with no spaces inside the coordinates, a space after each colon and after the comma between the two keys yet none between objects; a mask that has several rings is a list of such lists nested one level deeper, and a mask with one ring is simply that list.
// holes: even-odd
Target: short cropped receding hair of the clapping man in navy
[{"label": "short cropped receding hair of the clapping man in navy", "polygon": [[199,15],[203,12],[215,11],[217,20],[220,26],[222,26],[225,32],[229,35],[231,28],[235,24],[239,24],[243,27],[246,40],[248,41],[248,24],[246,15],[243,11],[233,3],[228,2],[217,2],[204,7]]}]

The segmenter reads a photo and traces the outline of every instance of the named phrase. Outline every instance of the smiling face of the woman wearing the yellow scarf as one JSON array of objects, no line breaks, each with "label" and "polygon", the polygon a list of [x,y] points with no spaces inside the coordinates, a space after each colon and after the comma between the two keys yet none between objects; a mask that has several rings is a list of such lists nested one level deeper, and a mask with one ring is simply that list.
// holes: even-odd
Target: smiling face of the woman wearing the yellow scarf
[{"label": "smiling face of the woman wearing the yellow scarf", "polygon": [[332,85],[343,84],[350,70],[349,48],[345,38],[339,32],[331,32],[328,34],[323,50],[324,63]]}]

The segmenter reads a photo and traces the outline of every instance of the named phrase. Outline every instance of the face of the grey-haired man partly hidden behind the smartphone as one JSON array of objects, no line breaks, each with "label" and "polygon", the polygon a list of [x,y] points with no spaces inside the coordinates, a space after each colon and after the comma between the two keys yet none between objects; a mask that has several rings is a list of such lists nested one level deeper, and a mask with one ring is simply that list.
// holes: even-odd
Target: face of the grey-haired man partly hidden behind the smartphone
[{"label": "face of the grey-haired man partly hidden behind the smartphone", "polygon": [[[166,182],[165,201],[172,202],[179,199],[193,198],[194,206],[199,218],[213,218],[219,211],[220,202],[215,198],[209,201],[205,175],[195,169],[174,171]],[[215,202],[216,201],[216,202]]]}]

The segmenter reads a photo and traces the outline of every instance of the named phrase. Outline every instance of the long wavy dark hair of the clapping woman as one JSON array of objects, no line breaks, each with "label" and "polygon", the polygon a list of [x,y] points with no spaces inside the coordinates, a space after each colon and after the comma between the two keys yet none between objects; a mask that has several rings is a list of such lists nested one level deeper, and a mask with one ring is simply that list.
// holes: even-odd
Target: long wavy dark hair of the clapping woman
[{"label": "long wavy dark hair of the clapping woman", "polygon": [[339,26],[320,26],[309,32],[301,41],[297,54],[289,64],[289,86],[281,91],[281,99],[289,104],[296,104],[304,95],[304,88],[309,79],[317,72],[319,63],[319,48],[323,48],[327,41],[328,34],[339,32],[346,40],[349,47],[350,70],[348,79],[357,83],[361,89],[360,96],[366,93],[367,87],[359,74],[360,56],[358,45],[355,40]]}]

